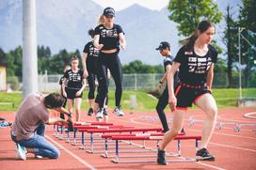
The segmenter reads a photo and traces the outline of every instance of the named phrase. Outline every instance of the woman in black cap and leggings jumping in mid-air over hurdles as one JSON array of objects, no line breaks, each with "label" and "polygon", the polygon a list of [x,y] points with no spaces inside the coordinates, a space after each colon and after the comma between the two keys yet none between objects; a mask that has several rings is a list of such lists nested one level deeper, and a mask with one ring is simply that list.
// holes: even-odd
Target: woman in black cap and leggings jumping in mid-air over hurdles
[{"label": "woman in black cap and leggings jumping in mid-air over hurdles", "polygon": [[116,108],[114,112],[117,116],[123,116],[120,109],[120,100],[122,94],[122,70],[120,65],[120,47],[125,50],[126,41],[124,33],[119,24],[114,23],[115,10],[114,8],[104,8],[104,24],[100,24],[95,28],[94,46],[100,50],[98,57],[98,74],[99,81],[98,94],[95,102],[99,104],[96,117],[104,117],[104,99],[107,95],[107,74],[106,69],[115,81],[116,85]]}]

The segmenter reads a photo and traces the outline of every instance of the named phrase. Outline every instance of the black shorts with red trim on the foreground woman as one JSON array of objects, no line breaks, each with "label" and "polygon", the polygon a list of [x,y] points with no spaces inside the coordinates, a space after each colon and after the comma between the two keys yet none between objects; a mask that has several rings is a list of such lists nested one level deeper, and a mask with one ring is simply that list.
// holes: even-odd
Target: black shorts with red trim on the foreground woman
[{"label": "black shorts with red trim on the foreground woman", "polygon": [[211,91],[205,85],[188,85],[179,83],[175,88],[175,96],[177,98],[177,109],[186,109],[191,107],[192,103],[200,98],[200,96]]}]

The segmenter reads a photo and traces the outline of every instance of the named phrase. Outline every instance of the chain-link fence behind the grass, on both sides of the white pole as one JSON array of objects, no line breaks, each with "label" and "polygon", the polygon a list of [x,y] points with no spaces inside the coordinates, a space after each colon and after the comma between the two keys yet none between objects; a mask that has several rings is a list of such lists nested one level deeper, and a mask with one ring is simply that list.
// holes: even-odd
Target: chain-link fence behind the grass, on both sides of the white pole
[{"label": "chain-link fence behind the grass, on both sides of the white pole", "polygon": [[[62,74],[56,75],[39,75],[39,91],[58,91],[60,89],[59,80]],[[124,90],[154,90],[159,84],[163,74],[123,74],[122,86]],[[22,78],[21,77],[8,77],[8,86],[12,91],[22,91]],[[227,88],[229,86],[228,75],[224,73],[215,73],[213,88]],[[233,75],[232,87],[238,88],[239,77],[238,74]],[[242,88],[256,87],[256,72],[251,71],[246,81],[242,76]],[[110,78],[109,89],[115,89],[113,78]]]}]

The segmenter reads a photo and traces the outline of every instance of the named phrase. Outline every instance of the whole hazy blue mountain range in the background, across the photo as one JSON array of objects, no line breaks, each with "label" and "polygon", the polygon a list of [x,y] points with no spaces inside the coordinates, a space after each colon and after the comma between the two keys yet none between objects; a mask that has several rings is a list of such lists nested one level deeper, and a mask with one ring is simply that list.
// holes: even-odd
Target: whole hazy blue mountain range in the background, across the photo
[{"label": "whole hazy blue mountain range in the background, across the photo", "polygon": [[[236,8],[241,0],[216,0],[220,11],[228,3]],[[22,0],[0,1],[0,47],[5,52],[22,45]],[[238,11],[238,8],[235,9]],[[103,8],[91,0],[37,0],[38,45],[49,46],[53,54],[61,49],[83,51],[90,40],[87,31],[95,27]],[[147,64],[162,63],[155,51],[160,41],[170,42],[172,54],[179,49],[176,23],[168,20],[168,8],[152,10],[133,5],[117,12],[115,23],[121,25],[127,40],[127,49],[120,52],[122,63],[139,59]],[[224,20],[216,25],[216,39],[221,47]]]}]

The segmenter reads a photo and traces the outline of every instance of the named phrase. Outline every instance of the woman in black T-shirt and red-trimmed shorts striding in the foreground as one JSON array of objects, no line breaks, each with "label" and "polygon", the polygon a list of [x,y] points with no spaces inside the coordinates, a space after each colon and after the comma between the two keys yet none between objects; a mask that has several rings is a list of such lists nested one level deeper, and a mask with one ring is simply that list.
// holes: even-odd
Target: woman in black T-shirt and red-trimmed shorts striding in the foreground
[{"label": "woman in black T-shirt and red-trimmed shorts striding in the foreground", "polygon": [[[174,112],[172,127],[166,133],[158,150],[157,162],[160,164],[167,164],[165,148],[182,130],[184,110],[193,102],[206,115],[197,157],[199,160],[215,160],[215,156],[206,149],[213,134],[217,116],[216,100],[211,95],[217,52],[210,43],[215,33],[214,23],[200,22],[195,34],[184,40],[184,46],[176,55],[168,73],[168,102],[170,109]],[[174,91],[173,76],[178,69],[180,83]]]}]

